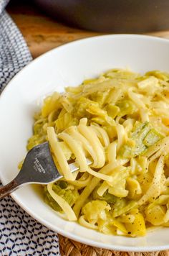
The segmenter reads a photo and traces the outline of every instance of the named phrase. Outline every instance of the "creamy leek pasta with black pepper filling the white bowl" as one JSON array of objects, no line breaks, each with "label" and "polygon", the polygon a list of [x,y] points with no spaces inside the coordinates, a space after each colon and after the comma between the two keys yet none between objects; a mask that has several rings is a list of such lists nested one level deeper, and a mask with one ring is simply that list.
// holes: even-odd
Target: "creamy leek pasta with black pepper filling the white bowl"
[{"label": "creamy leek pasta with black pepper filling the white bowl", "polygon": [[105,234],[169,226],[168,73],[109,70],[48,96],[34,119],[27,149],[48,140],[63,175],[44,186],[54,210]]}]

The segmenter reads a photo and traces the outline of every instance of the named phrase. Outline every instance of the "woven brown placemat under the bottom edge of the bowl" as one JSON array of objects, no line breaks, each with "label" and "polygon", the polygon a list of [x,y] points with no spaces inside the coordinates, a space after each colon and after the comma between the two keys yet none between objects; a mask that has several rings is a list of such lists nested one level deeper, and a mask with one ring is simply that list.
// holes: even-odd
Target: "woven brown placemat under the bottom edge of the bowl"
[{"label": "woven brown placemat under the bottom edge of the bowl", "polygon": [[59,234],[62,256],[169,256],[169,250],[161,252],[117,252],[81,244]]}]

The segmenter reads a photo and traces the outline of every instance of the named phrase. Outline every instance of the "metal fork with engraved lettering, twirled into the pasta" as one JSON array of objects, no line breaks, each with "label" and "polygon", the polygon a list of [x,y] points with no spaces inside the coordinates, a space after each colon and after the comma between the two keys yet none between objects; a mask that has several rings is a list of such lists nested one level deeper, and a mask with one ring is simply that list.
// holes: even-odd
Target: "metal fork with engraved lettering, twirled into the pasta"
[{"label": "metal fork with engraved lettering, twirled into the pasta", "polygon": [[[87,159],[87,165],[91,163]],[[69,164],[69,168],[72,172],[79,169],[74,163]],[[49,143],[44,142],[29,150],[16,178],[11,180],[6,186],[0,187],[0,199],[8,196],[9,193],[15,191],[21,185],[32,183],[47,184],[57,181],[62,177],[54,165]]]}]

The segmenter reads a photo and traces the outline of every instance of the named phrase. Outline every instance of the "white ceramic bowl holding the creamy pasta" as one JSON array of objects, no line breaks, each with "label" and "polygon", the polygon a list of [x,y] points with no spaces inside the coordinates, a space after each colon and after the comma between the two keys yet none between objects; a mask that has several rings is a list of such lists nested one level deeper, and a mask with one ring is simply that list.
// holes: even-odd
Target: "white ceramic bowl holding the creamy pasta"
[{"label": "white ceramic bowl holding the creamy pasta", "polygon": [[[169,71],[169,41],[143,35],[106,35],[72,42],[51,50],[26,66],[0,97],[0,178],[3,184],[18,173],[32,135],[33,114],[45,95],[77,86],[110,68],[130,67]],[[158,229],[145,237],[130,238],[101,234],[65,221],[33,186],[12,193],[14,200],[49,229],[84,244],[110,250],[150,251],[169,249],[169,229]]]}]

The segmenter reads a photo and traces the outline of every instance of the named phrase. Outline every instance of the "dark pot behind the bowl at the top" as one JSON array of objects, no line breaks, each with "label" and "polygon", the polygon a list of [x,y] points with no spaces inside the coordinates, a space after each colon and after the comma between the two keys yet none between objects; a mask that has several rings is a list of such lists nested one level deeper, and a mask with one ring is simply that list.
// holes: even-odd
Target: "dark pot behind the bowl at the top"
[{"label": "dark pot behind the bowl at the top", "polygon": [[169,29],[169,0],[34,0],[56,19],[98,32]]}]

